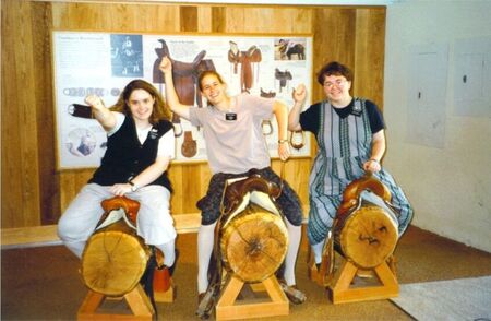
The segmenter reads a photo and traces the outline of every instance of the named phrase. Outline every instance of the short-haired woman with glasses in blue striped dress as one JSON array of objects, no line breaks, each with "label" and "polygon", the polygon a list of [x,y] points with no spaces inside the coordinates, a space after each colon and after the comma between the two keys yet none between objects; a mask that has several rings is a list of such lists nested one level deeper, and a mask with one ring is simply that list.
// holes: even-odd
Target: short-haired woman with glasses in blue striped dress
[{"label": "short-haired woman with glasses in blue striped dress", "polygon": [[[412,209],[394,178],[380,162],[385,153],[384,121],[375,104],[351,97],[352,73],[346,66],[333,61],[318,74],[326,99],[301,112],[307,97],[304,85],[294,92],[295,105],[288,116],[288,129],[310,131],[318,142],[309,179],[309,241],[316,265],[333,226],[343,191],[352,180],[371,171],[392,193],[392,204],[398,212],[402,235],[412,217]],[[319,266],[319,265],[318,265]]]}]

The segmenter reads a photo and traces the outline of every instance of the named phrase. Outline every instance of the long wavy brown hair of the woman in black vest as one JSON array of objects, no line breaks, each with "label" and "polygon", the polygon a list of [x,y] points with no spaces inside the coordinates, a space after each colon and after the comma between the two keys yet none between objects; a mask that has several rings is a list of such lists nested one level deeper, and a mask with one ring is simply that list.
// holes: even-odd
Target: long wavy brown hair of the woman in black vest
[{"label": "long wavy brown hair of the woman in black vest", "polygon": [[144,80],[134,80],[131,81],[122,91],[121,95],[119,95],[118,102],[111,107],[113,111],[120,111],[127,116],[131,116],[130,106],[128,105],[128,99],[130,99],[131,94],[136,90],[143,90],[151,94],[154,98],[154,109],[148,119],[149,123],[156,124],[160,120],[169,120],[171,119],[170,108],[165,103],[160,93],[149,83]]}]

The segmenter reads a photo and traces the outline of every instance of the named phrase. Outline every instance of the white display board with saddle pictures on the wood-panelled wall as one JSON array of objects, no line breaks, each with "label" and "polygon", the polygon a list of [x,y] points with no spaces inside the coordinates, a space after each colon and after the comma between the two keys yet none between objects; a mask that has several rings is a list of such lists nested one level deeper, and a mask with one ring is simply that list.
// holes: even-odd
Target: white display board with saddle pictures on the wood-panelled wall
[{"label": "white display board with saddle pictures on the wood-panelled wall", "polygon": [[[83,106],[96,94],[112,106],[134,79],[152,83],[165,97],[164,56],[173,61],[173,80],[181,103],[201,108],[206,100],[196,86],[204,70],[217,71],[228,94],[271,97],[291,108],[292,90],[312,79],[311,36],[147,35],[62,32],[52,34],[58,167],[97,167],[106,152],[107,135]],[[307,102],[306,106],[309,106]],[[89,110],[88,110],[89,111]],[[206,160],[203,130],[185,119],[172,119],[176,134],[173,162]],[[263,133],[270,154],[277,157],[275,117],[265,119]],[[300,136],[300,135],[299,135]],[[310,138],[292,156],[310,155]]]}]

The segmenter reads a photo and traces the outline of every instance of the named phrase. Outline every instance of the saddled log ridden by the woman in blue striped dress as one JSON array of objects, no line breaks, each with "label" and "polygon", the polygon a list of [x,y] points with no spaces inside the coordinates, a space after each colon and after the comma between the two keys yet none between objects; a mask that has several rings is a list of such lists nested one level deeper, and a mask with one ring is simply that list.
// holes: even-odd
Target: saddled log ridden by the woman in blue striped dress
[{"label": "saddled log ridden by the woman in blue striped dress", "polygon": [[346,187],[324,245],[318,282],[323,285],[331,282],[334,250],[361,270],[374,269],[390,260],[399,238],[398,214],[391,199],[387,187],[371,174]]}]

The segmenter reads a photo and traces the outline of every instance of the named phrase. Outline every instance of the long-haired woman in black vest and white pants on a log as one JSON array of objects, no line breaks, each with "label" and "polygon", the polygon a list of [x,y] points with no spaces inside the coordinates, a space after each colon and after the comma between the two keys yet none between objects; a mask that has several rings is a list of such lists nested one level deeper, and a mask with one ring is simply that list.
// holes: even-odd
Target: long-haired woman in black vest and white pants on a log
[{"label": "long-haired woman in black vest and white pants on a log", "polygon": [[143,80],[130,82],[111,109],[95,95],[85,102],[107,132],[107,151],[100,167],[61,216],[60,239],[81,258],[104,214],[101,201],[127,195],[140,202],[137,234],[160,249],[164,264],[173,268],[177,234],[169,212],[172,189],[167,177],[175,157],[170,109],[157,90]]}]

